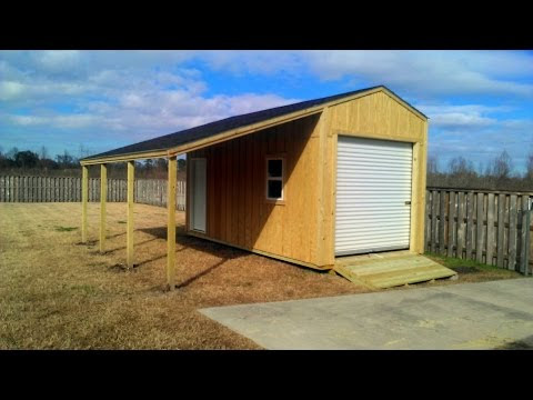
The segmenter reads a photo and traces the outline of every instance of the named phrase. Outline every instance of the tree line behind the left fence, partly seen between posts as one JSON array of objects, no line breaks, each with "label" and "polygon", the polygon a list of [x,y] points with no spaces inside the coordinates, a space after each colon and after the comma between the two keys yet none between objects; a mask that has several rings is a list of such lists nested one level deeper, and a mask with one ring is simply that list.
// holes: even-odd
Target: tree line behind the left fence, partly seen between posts
[{"label": "tree line behind the left fence, partly seen between posts", "polygon": [[[81,177],[80,159],[87,157],[87,151],[80,147],[80,157],[69,153],[50,158],[48,149],[43,146],[39,152],[19,150],[17,147],[3,152],[0,147],[0,174],[1,176],[37,176],[37,177]],[[178,159],[178,176],[184,179],[185,160]],[[137,178],[167,179],[168,161],[165,159],[150,159],[135,161]],[[100,169],[89,168],[90,178],[99,178]],[[125,162],[108,164],[108,177],[111,179],[125,179]]]}]

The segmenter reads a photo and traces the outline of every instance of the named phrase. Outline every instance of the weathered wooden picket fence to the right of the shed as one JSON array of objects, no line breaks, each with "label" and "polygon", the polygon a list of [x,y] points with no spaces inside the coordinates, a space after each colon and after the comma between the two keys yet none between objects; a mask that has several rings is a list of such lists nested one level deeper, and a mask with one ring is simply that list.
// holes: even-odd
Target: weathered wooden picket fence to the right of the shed
[{"label": "weathered wooden picket fence to the right of the shed", "polygon": [[529,273],[532,193],[428,188],[425,196],[425,251]]}]

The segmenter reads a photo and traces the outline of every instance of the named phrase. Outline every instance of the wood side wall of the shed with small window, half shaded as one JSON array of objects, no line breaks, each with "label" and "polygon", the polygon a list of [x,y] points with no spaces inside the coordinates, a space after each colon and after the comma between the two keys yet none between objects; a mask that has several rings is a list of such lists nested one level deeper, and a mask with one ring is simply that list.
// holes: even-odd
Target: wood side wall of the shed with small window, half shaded
[{"label": "wood side wall of the shed with small window, half shaded", "polygon": [[[318,266],[319,117],[188,154],[208,161],[205,238]],[[265,196],[265,159],[285,159],[284,201]]]}]

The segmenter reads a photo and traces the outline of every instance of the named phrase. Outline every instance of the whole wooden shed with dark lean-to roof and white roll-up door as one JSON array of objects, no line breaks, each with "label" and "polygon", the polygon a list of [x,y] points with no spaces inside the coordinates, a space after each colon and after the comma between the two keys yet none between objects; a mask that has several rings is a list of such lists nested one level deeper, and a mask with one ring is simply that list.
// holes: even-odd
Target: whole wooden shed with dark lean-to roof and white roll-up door
[{"label": "whole wooden shed with dark lean-to roof and white roll-up door", "polygon": [[423,252],[426,151],[428,118],[380,86],[231,117],[81,163],[169,158],[170,202],[175,156],[187,153],[189,234],[332,269],[345,256]]}]

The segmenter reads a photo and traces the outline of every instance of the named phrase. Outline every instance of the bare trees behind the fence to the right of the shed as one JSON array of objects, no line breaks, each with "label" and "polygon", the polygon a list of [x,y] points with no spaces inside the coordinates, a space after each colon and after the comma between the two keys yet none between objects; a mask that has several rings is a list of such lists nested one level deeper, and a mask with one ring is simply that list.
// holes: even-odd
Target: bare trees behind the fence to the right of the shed
[{"label": "bare trees behind the fence to the right of the shed", "polygon": [[459,156],[451,159],[445,168],[442,168],[438,156],[431,154],[428,157],[428,187],[533,191],[533,152],[527,154],[524,173],[515,172],[514,167],[505,150],[477,166]]}]

